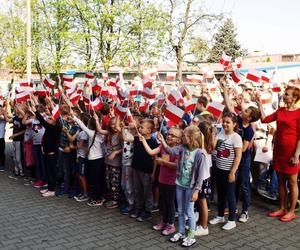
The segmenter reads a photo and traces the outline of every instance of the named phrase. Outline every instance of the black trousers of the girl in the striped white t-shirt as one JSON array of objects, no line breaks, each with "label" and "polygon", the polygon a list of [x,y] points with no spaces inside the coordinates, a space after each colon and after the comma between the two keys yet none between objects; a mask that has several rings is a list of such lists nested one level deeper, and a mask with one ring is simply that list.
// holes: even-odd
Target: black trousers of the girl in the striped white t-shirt
[{"label": "black trousers of the girl in the striped white t-shirt", "polygon": [[218,191],[218,216],[223,217],[228,202],[228,220],[235,221],[236,217],[236,198],[235,182],[228,181],[229,171],[216,168],[216,183]]}]

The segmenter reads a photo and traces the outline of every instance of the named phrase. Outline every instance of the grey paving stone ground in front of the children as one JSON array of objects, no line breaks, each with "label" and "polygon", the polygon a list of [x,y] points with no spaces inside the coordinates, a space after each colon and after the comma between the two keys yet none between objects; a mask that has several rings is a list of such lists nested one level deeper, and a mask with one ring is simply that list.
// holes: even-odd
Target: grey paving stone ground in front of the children
[{"label": "grey paving stone ground in front of the children", "polygon": [[[7,155],[11,144],[7,144]],[[7,157],[7,165],[12,161]],[[151,229],[159,220],[137,222],[118,209],[91,208],[65,198],[43,198],[39,191],[0,173],[0,249],[182,249]],[[194,249],[300,249],[299,218],[283,223],[268,218],[276,206],[254,197],[249,222],[225,232],[209,226]],[[212,207],[210,217],[216,215]]]}]

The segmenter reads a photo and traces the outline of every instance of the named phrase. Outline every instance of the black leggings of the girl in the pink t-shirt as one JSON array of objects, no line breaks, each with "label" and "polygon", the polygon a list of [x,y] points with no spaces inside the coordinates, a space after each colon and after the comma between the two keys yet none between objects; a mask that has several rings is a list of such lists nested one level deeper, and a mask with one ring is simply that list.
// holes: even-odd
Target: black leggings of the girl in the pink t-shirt
[{"label": "black leggings of the girl in the pink t-shirt", "polygon": [[163,223],[174,224],[176,185],[159,184],[160,211]]}]

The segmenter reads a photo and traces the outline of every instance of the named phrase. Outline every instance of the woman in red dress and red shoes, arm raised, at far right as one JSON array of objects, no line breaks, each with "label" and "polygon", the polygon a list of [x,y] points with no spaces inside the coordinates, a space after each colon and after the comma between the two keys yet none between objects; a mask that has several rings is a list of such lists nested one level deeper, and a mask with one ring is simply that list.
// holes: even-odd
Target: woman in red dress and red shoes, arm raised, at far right
[{"label": "woman in red dress and red shoes, arm raised, at far right", "polygon": [[[278,191],[280,208],[270,212],[270,217],[280,217],[281,221],[291,221],[296,218],[295,207],[298,200],[297,175],[300,169],[300,108],[296,102],[300,100],[300,90],[296,87],[287,87],[283,95],[285,107],[279,108],[275,113],[265,116],[261,101],[262,121],[269,123],[276,121],[273,151],[273,167],[278,175]],[[288,182],[290,190],[290,207],[287,209]]]}]

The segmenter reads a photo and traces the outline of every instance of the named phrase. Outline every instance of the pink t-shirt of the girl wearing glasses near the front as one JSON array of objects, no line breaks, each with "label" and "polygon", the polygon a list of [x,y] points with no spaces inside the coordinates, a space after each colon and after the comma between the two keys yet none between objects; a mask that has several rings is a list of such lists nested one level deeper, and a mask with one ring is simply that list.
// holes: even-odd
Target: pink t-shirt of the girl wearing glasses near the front
[{"label": "pink t-shirt of the girl wearing glasses near the front", "polygon": [[[175,162],[179,158],[178,155],[167,154],[163,147],[161,147],[160,154],[162,159],[169,162]],[[176,169],[171,169],[169,167],[161,165],[159,170],[158,181],[161,184],[176,185]]]}]

